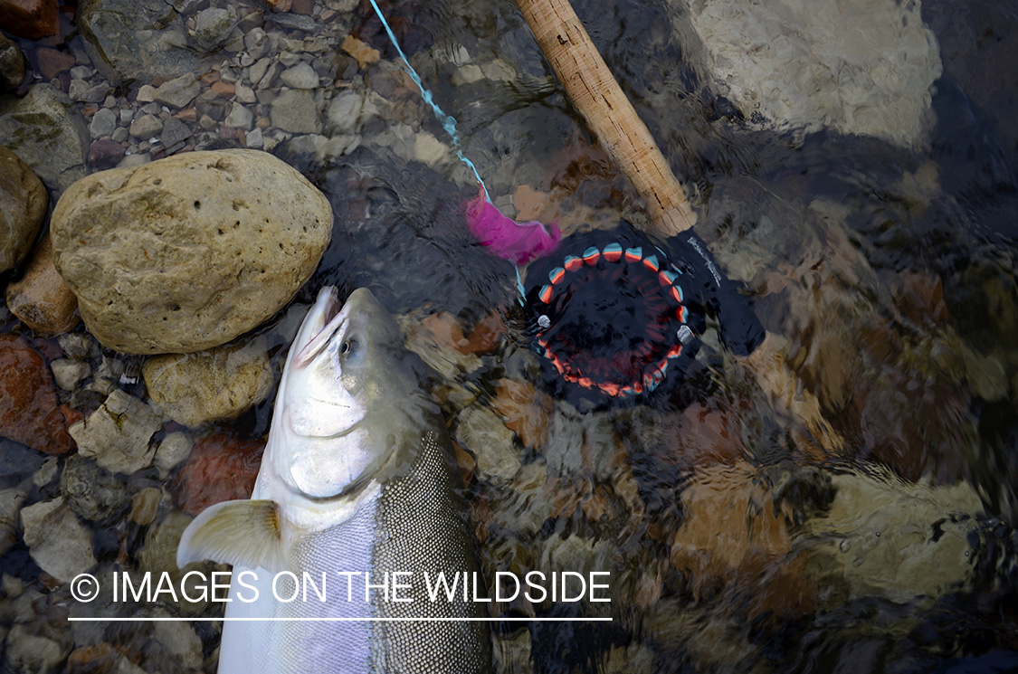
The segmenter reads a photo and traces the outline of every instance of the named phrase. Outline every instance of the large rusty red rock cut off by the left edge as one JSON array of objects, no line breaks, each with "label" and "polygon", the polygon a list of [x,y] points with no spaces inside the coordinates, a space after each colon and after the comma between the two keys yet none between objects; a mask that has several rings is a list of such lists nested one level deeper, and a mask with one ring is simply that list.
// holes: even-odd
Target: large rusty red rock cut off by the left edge
[{"label": "large rusty red rock cut off by the left edge", "polygon": [[51,455],[74,448],[50,369],[11,334],[0,335],[0,435]]}]

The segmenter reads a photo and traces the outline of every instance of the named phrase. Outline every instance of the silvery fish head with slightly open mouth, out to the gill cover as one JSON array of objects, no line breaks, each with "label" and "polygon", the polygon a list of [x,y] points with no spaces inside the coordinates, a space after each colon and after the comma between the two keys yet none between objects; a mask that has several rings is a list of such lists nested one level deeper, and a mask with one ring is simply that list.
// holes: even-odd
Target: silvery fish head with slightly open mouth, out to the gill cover
[{"label": "silvery fish head with slightly open mouth, out to the gill cover", "polygon": [[269,453],[291,490],[343,493],[385,464],[420,392],[414,356],[370,290],[340,305],[324,288],[297,332],[276,398]]}]

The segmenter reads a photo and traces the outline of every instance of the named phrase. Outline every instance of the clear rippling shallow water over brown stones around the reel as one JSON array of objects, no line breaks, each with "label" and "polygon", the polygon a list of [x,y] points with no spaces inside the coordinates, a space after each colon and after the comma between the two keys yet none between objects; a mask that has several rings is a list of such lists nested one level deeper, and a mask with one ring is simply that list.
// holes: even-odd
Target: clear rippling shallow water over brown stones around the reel
[{"label": "clear rippling shallow water over brown stones around the reel", "polygon": [[[383,9],[496,204],[567,233],[640,222],[511,4]],[[944,74],[928,144],[911,149],[746,119],[712,85],[681,7],[577,10],[787,366],[735,358],[712,329],[681,383],[579,413],[543,393],[512,267],[465,229],[465,169],[371,143],[326,165],[283,154],[337,222],[297,302],[324,284],[369,286],[403,316],[476,463],[489,577],[612,572],[610,608],[499,607],[614,618],[500,624],[499,671],[911,672],[1018,650],[1014,8],[923,5]],[[395,56],[366,12],[355,32]],[[464,81],[461,48],[486,76]],[[397,105],[362,136],[401,123],[447,142],[400,75],[363,79]],[[486,321],[505,328],[471,353],[439,329]],[[226,430],[257,437],[270,420],[267,402]],[[107,561],[122,541],[137,552],[126,512],[107,523]],[[5,557],[36,580],[32,566],[23,548]],[[217,628],[195,628],[211,659]],[[147,629],[105,639],[156,648]]]}]

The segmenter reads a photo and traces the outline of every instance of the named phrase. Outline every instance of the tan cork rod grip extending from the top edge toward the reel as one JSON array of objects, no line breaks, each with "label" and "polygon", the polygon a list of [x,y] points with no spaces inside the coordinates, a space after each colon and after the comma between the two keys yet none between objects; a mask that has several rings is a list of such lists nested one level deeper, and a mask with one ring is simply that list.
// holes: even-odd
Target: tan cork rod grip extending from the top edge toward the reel
[{"label": "tan cork rod grip extending from the top edge toward the reel", "polygon": [[682,185],[568,0],[516,0],[516,4],[573,105],[646,200],[660,232],[672,236],[696,224]]}]

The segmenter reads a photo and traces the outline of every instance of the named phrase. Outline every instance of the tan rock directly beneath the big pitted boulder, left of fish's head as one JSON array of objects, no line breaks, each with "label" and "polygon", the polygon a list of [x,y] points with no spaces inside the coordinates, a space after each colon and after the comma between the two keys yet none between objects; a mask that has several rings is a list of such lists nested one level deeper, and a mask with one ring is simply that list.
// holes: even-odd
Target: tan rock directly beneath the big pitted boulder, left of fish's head
[{"label": "tan rock directly beneath the big pitted boulder, left of fish's head", "polygon": [[152,401],[174,422],[196,427],[233,419],[265,400],[272,388],[264,337],[209,351],[157,355],[142,376]]}]

